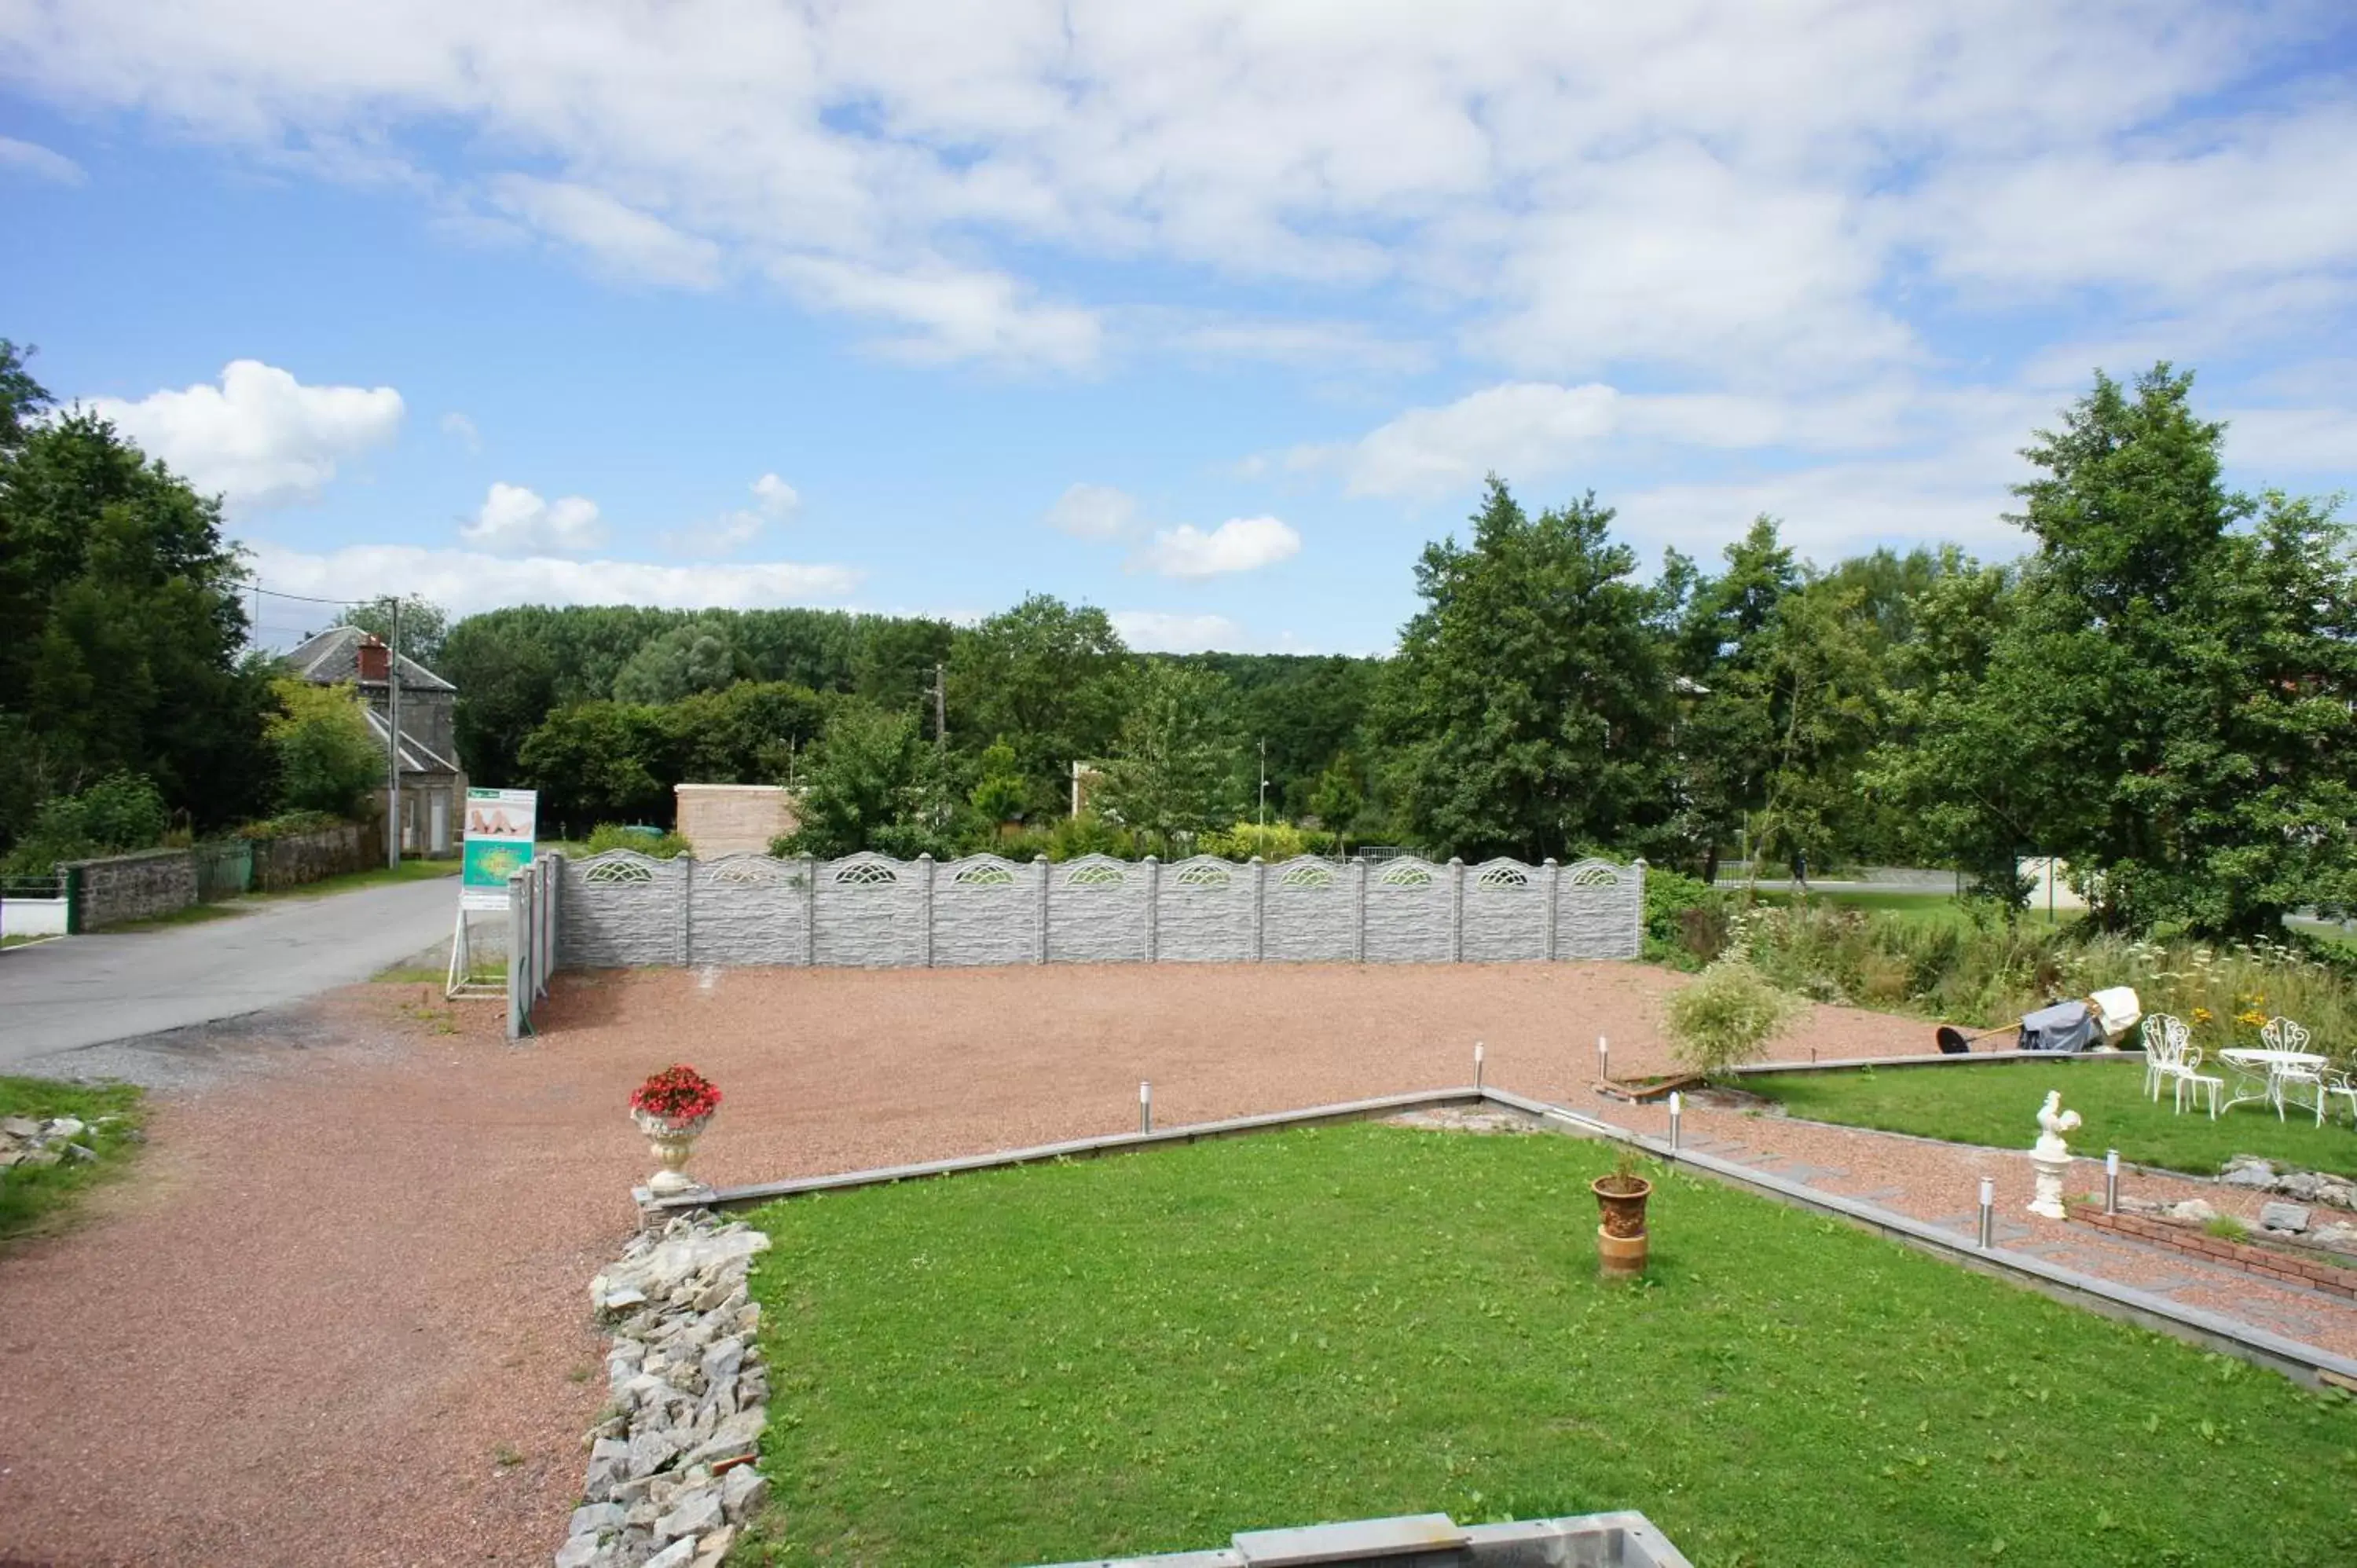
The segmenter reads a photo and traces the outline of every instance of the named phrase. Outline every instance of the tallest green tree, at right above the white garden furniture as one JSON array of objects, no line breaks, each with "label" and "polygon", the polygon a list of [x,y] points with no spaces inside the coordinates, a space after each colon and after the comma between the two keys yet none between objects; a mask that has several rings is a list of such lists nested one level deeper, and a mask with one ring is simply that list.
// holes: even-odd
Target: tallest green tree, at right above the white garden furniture
[{"label": "tallest green tree, at right above the white garden furniture", "polygon": [[1985,670],[1886,771],[1970,799],[1952,832],[2008,891],[2001,849],[2034,849],[2110,929],[2258,934],[2357,887],[2357,568],[2333,502],[2225,488],[2190,394],[2166,363],[2098,375],[2036,434],[2013,519],[2036,545]]}]

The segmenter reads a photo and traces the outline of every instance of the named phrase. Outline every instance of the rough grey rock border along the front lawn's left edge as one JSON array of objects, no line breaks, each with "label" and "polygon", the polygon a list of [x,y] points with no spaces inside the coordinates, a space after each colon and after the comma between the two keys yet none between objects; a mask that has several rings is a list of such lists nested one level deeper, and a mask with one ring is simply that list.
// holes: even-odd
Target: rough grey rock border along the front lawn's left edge
[{"label": "rough grey rock border along the front lawn's left edge", "polygon": [[589,1280],[613,1327],[589,1474],[556,1568],[719,1568],[768,1502],[761,1306],[745,1273],[768,1236],[707,1212],[641,1231]]}]

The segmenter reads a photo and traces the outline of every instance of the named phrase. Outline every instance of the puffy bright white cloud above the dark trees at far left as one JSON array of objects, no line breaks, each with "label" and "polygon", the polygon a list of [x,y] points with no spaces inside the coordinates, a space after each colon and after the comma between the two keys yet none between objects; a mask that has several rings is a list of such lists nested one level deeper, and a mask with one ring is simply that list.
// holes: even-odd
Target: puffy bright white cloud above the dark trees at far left
[{"label": "puffy bright white cloud above the dark trees at far left", "polygon": [[391,441],[403,415],[391,387],[304,387],[257,358],[231,361],[219,387],[198,382],[137,403],[92,398],[90,408],[231,509],[316,498],[339,462]]}]

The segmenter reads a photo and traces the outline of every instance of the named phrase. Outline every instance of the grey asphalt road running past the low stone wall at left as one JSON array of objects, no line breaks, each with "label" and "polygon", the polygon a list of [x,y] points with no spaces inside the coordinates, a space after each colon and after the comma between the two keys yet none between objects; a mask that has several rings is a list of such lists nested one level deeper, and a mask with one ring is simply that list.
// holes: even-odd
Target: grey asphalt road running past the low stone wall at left
[{"label": "grey asphalt road running past the low stone wall at left", "polygon": [[448,941],[455,910],[457,877],[436,877],[0,950],[0,1070],[365,981]]}]

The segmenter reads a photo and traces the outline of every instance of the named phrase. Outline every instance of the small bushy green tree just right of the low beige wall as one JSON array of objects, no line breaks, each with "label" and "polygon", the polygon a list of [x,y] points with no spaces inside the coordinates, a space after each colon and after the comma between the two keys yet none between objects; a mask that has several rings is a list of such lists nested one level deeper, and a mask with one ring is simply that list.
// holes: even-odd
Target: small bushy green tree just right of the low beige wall
[{"label": "small bushy green tree just right of the low beige wall", "polygon": [[915,712],[839,703],[801,771],[799,804],[801,828],[780,844],[787,854],[955,854],[948,780]]}]

